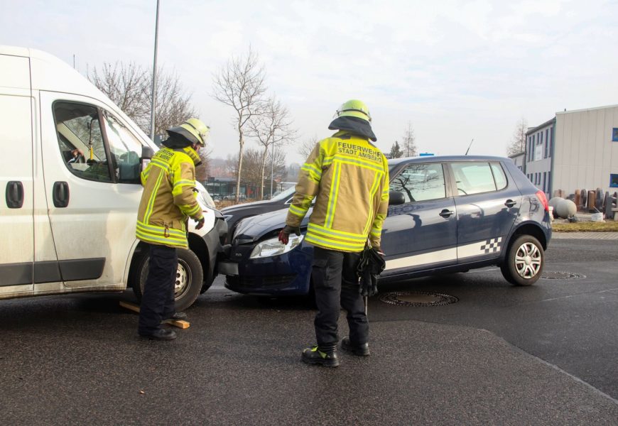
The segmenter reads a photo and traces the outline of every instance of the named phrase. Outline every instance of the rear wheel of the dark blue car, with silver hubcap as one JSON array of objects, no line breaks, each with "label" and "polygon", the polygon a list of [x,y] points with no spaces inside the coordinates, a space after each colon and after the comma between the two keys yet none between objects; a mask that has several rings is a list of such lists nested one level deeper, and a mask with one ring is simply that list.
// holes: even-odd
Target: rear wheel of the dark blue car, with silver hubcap
[{"label": "rear wheel of the dark blue car, with silver hubcap", "polygon": [[521,235],[509,246],[500,271],[511,284],[533,285],[541,277],[544,265],[545,252],[538,239]]}]

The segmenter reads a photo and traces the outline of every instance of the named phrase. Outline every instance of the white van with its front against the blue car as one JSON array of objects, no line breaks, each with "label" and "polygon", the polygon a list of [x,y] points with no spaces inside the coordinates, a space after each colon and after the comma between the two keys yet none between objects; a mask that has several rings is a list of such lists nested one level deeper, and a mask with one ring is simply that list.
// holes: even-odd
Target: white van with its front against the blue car
[{"label": "white van with its front against the blue car", "polygon": [[[139,173],[157,148],[139,127],[58,58],[0,46],[0,146],[0,299],[129,286],[141,297]],[[202,208],[205,226],[189,221],[190,250],[178,250],[177,310],[212,284],[227,233]]]}]

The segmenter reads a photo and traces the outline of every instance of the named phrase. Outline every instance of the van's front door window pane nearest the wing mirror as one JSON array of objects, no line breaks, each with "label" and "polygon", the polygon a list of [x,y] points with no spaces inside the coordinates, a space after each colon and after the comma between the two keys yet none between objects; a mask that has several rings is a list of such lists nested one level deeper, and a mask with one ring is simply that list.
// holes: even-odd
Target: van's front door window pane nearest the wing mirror
[{"label": "van's front door window pane nearest the wing mirror", "polygon": [[102,116],[116,182],[141,184],[141,142],[112,113],[102,110]]}]

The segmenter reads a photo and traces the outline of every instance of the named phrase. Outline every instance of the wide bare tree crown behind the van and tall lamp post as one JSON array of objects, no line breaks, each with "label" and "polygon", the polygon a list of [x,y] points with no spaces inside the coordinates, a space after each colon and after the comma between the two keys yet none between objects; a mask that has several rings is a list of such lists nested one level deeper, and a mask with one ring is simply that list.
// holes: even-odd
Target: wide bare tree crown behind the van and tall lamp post
[{"label": "wide bare tree crown behind the van and tall lamp post", "polygon": [[[90,81],[109,99],[120,107],[144,131],[150,133],[152,107],[152,71],[143,70],[134,62],[105,62],[102,69],[94,67],[88,76]],[[191,95],[186,94],[175,73],[157,70],[157,101],[155,111],[155,134],[164,134],[167,129],[195,116]]]}]

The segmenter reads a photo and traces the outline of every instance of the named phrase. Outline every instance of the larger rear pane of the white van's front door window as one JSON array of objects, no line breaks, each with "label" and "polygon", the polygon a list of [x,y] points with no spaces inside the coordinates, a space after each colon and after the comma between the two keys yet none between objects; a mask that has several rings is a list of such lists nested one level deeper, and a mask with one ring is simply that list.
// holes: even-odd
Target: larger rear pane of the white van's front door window
[{"label": "larger rear pane of the white van's front door window", "polygon": [[112,182],[99,110],[92,105],[55,102],[53,112],[58,148],[71,173],[87,180]]}]

